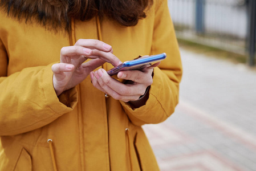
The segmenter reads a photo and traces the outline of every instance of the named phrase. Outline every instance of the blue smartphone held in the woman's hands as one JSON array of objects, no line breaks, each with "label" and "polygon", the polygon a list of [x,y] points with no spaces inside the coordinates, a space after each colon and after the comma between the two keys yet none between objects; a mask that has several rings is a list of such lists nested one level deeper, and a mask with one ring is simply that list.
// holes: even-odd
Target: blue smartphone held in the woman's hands
[{"label": "blue smartphone held in the woman's hands", "polygon": [[147,57],[141,57],[135,60],[126,61],[111,70],[108,70],[108,75],[112,76],[120,71],[125,70],[143,70],[144,68],[150,67],[152,64],[160,62],[166,58],[166,54],[151,55]]}]

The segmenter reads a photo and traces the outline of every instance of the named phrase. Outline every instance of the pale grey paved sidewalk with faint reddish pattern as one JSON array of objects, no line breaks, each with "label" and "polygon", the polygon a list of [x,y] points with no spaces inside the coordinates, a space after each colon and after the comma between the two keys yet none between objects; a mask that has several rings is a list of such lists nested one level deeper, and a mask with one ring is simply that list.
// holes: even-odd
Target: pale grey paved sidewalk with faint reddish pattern
[{"label": "pale grey paved sidewalk with faint reddish pattern", "polygon": [[180,103],[144,130],[162,171],[256,171],[256,71],[181,49]]}]

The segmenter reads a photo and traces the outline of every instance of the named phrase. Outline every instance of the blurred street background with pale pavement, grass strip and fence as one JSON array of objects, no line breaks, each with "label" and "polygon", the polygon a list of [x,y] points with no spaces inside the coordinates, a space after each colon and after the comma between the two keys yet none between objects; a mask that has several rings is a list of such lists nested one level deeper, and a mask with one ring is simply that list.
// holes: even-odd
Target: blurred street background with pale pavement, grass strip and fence
[{"label": "blurred street background with pale pavement, grass strip and fence", "polygon": [[256,170],[256,1],[169,0],[180,103],[144,125],[162,171]]}]

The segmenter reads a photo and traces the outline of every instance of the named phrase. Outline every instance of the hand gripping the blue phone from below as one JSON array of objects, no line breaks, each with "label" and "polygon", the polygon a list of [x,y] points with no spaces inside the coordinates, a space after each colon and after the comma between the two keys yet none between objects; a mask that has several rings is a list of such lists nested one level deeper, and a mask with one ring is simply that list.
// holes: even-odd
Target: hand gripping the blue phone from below
[{"label": "hand gripping the blue phone from below", "polygon": [[145,68],[143,71],[121,71],[117,74],[117,78],[131,80],[132,84],[120,83],[116,79],[111,78],[102,68],[91,72],[90,77],[94,87],[112,96],[114,99],[125,102],[135,101],[144,95],[147,87],[153,83],[153,67],[159,64],[160,62]]}]

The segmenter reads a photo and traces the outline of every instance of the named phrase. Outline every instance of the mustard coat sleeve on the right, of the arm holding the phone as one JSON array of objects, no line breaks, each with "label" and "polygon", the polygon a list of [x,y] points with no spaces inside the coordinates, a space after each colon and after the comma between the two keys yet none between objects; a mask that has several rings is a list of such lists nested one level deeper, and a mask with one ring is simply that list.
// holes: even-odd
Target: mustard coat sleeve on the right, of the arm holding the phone
[{"label": "mustard coat sleeve on the right, of the arm holding the phone", "polygon": [[[157,1],[156,1],[157,2]],[[167,1],[157,2],[151,54],[166,52],[166,59],[154,69],[153,84],[147,103],[132,109],[121,102],[124,111],[135,125],[156,124],[166,120],[178,104],[182,64]]]}]

